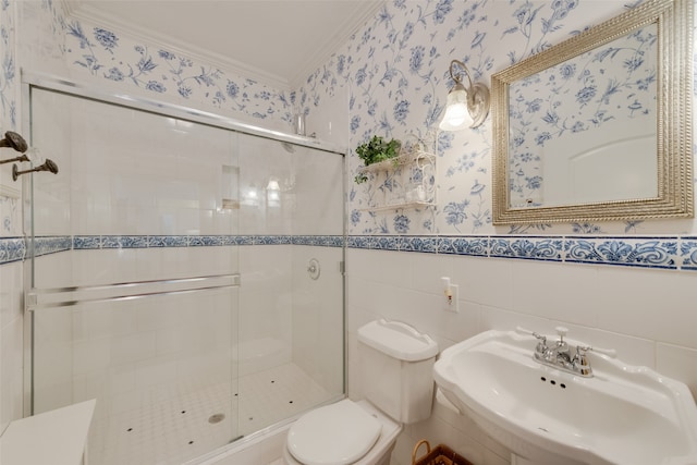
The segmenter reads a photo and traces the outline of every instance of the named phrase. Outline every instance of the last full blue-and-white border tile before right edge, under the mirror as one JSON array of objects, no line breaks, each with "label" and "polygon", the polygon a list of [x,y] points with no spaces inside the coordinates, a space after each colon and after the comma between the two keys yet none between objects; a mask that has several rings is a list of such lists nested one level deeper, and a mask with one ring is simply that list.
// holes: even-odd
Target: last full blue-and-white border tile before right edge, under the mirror
[{"label": "last full blue-and-white border tile before right edge, under the mirror", "polygon": [[565,261],[677,269],[677,237],[567,237]]}]

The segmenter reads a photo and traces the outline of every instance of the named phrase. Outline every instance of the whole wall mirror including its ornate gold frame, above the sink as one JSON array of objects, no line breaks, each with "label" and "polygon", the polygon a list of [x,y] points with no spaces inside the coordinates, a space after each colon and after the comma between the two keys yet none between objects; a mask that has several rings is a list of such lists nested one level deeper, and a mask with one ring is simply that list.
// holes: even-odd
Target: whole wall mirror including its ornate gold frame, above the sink
[{"label": "whole wall mirror including its ornate gold frame, above the sink", "polygon": [[493,223],[693,217],[693,0],[648,0],[491,77]]}]

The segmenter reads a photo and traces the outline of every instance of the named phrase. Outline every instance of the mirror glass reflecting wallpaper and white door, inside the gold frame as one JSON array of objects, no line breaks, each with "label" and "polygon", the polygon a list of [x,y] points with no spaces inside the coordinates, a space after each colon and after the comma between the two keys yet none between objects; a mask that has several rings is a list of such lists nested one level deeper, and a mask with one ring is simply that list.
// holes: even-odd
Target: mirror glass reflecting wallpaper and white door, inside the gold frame
[{"label": "mirror glass reflecting wallpaper and white door, inside the gold frame", "polygon": [[656,24],[509,88],[514,208],[658,196]]}]

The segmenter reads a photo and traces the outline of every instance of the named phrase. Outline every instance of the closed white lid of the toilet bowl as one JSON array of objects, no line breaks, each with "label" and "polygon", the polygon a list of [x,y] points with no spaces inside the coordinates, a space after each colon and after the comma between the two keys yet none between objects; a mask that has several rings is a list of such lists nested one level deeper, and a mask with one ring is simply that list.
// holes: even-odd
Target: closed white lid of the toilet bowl
[{"label": "closed white lid of the toilet bowl", "polygon": [[380,437],[380,421],[350,400],[303,415],[288,432],[288,449],[306,465],[347,465]]}]

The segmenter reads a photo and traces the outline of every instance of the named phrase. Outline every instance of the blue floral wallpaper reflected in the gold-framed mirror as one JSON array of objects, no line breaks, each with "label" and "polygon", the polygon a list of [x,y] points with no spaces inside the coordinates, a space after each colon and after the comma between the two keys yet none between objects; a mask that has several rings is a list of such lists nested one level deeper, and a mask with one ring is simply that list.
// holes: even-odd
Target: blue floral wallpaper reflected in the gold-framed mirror
[{"label": "blue floral wallpaper reflected in the gold-framed mirror", "polygon": [[[545,169],[540,150],[570,133],[611,121],[656,120],[656,26],[633,32],[510,86],[511,204],[540,205]],[[623,70],[606,73],[607,69]]]}]

